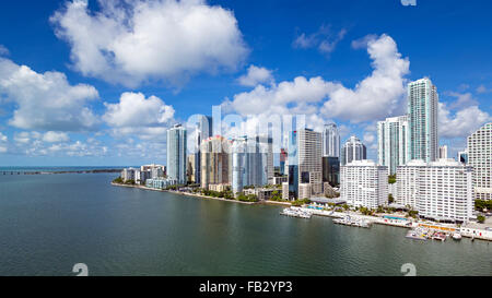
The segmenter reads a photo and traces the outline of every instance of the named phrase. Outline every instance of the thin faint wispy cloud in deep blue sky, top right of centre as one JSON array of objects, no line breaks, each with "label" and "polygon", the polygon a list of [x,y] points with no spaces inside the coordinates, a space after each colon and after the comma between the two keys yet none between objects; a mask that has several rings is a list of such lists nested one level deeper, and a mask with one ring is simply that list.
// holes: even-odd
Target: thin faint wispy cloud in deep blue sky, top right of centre
[{"label": "thin faint wispy cloud in deep blue sky, top right of centre", "polygon": [[333,32],[330,25],[323,25],[319,29],[312,34],[302,33],[298,35],[292,46],[294,48],[308,49],[317,48],[321,53],[331,53],[338,43],[340,43],[347,34],[347,29]]}]

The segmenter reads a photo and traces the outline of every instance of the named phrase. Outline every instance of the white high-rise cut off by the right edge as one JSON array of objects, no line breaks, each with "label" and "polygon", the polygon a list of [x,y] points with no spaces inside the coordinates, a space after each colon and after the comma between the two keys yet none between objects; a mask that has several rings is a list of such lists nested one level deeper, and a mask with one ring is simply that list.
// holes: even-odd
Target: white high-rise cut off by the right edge
[{"label": "white high-rise cut off by the right edge", "polygon": [[492,200],[492,122],[468,136],[468,165],[473,167],[476,199]]}]

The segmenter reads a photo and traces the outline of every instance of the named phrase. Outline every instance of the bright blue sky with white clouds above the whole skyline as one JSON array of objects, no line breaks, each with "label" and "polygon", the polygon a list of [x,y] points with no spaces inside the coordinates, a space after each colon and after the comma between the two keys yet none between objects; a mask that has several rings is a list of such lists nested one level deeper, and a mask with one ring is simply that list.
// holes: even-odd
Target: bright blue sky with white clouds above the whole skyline
[{"label": "bright blue sky with white clouds above the whole skyline", "polygon": [[452,154],[492,119],[490,1],[105,3],[1,4],[0,165],[164,164],[165,129],[219,105],[335,121],[375,158],[423,76]]}]

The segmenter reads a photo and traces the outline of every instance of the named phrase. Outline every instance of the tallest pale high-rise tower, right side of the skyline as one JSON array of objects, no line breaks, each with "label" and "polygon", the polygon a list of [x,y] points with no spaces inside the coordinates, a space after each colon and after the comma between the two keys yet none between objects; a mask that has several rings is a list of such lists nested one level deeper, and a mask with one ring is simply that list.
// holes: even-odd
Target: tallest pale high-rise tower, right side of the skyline
[{"label": "tallest pale high-rise tower, right side of the skyline", "polygon": [[423,159],[430,163],[438,158],[437,105],[437,90],[430,79],[408,84],[408,160]]}]

